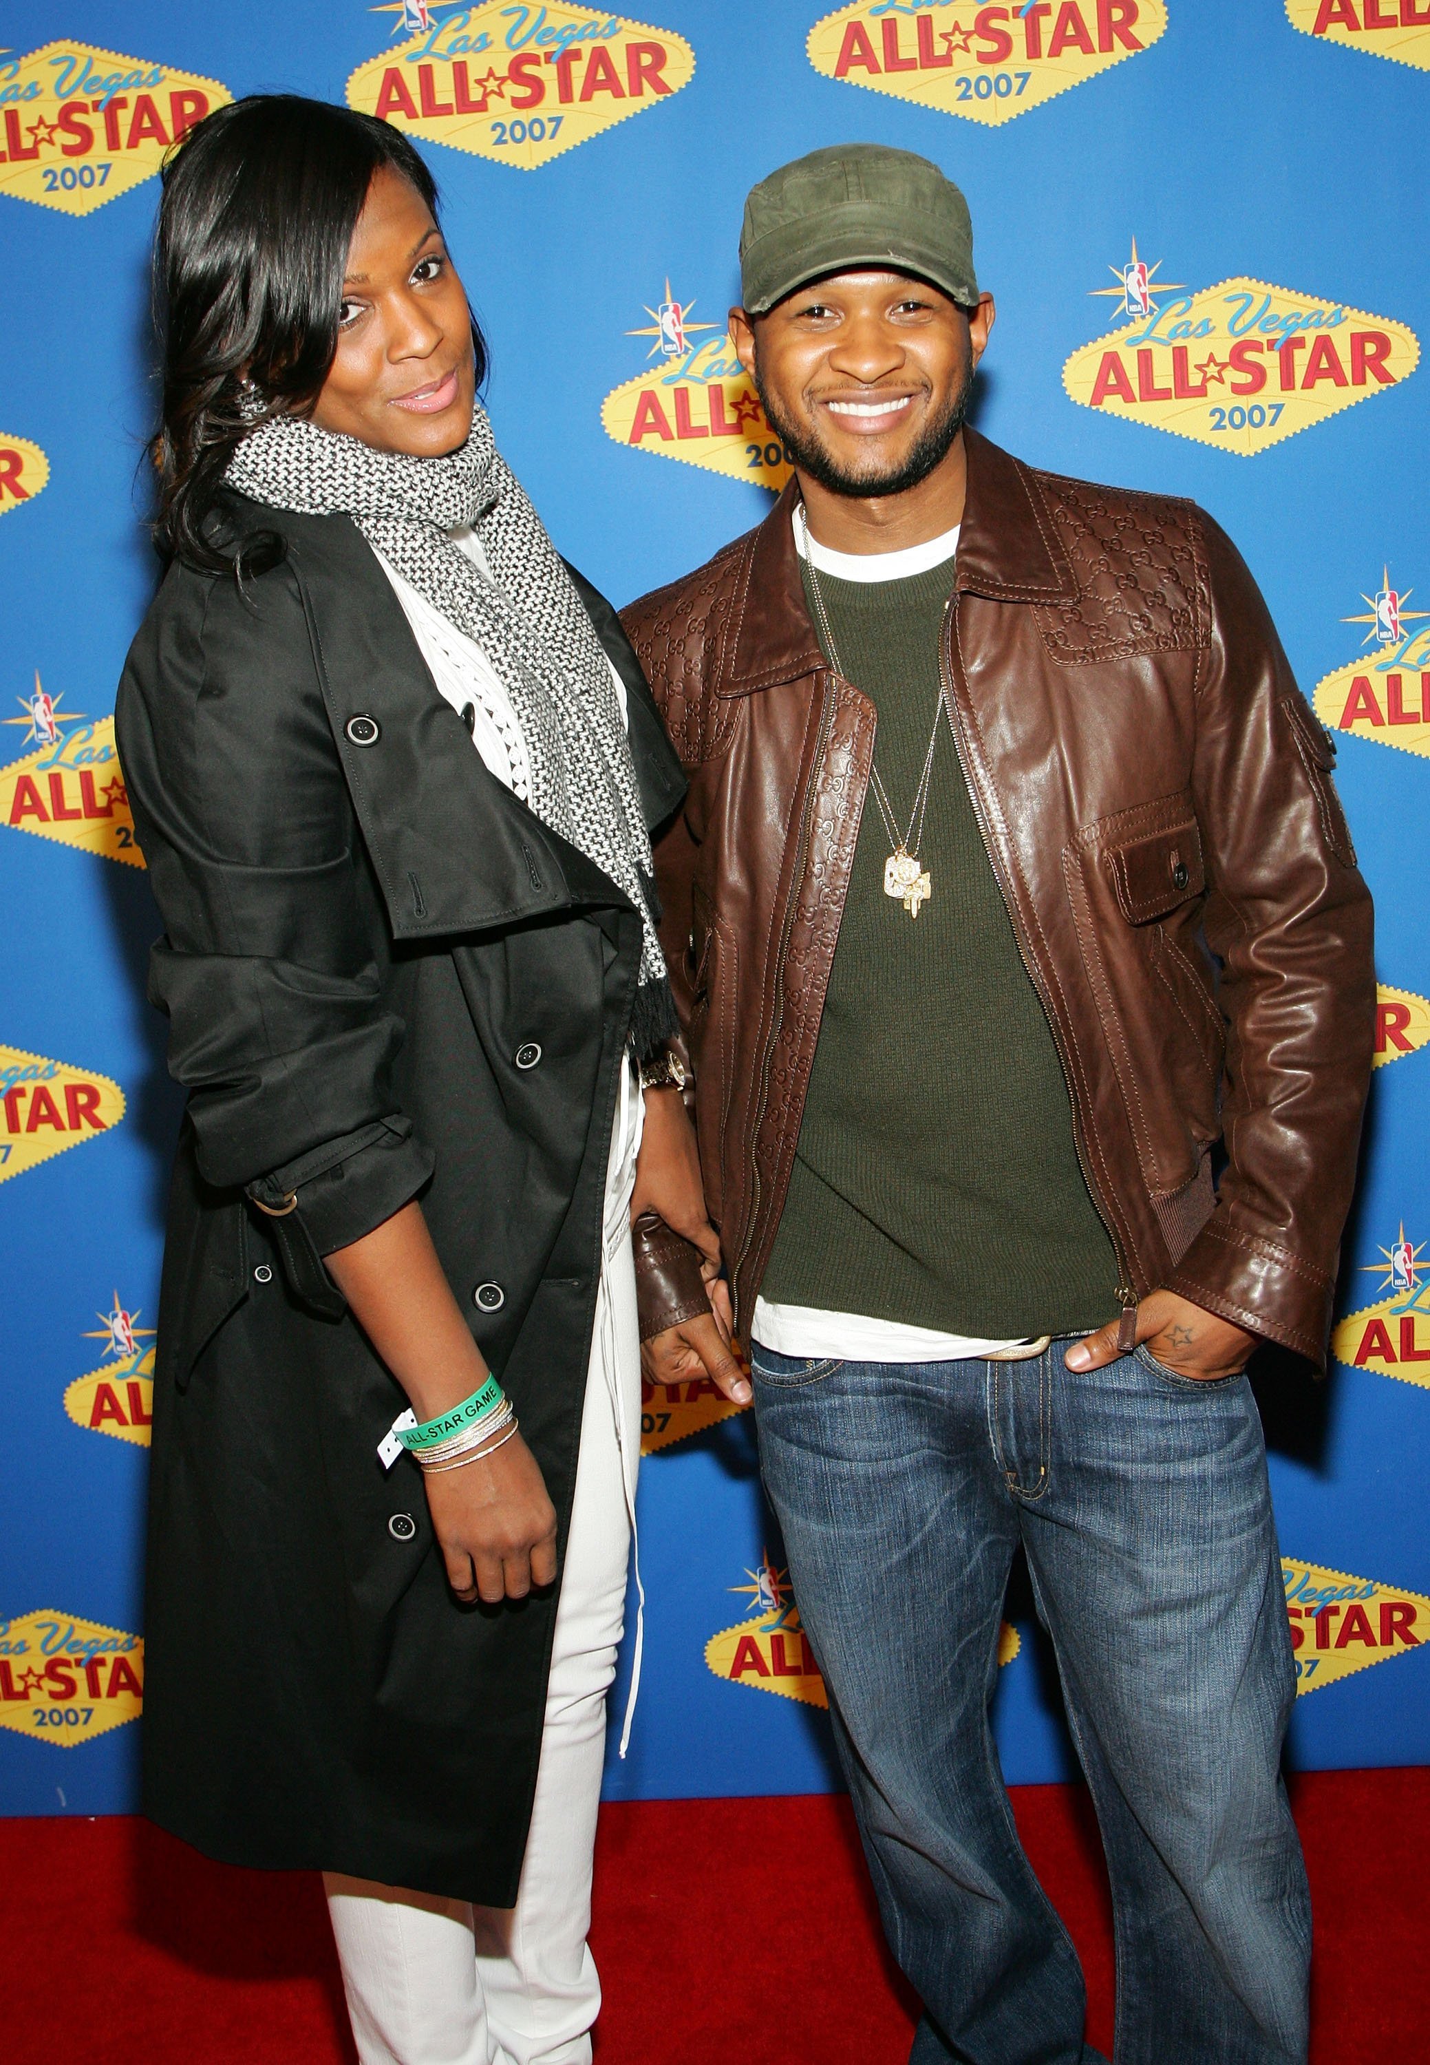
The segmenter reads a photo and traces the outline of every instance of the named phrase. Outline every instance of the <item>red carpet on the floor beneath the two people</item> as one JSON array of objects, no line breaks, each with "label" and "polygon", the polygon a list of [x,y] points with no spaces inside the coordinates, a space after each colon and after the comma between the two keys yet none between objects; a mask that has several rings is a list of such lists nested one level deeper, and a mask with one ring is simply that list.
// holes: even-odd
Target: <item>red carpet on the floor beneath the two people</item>
[{"label": "red carpet on the floor beneath the two people", "polygon": [[[1430,2057],[1430,1770],[1294,1786],[1317,1904],[1314,2065]],[[1112,1937],[1085,1794],[1013,1792],[1112,2051]],[[600,2065],[902,2065],[844,1799],[607,1807]],[[4,2057],[351,2065],[318,1881],[208,1865],[142,1821],[0,1821]],[[1209,2061],[1211,2065],[1211,2061]]]}]

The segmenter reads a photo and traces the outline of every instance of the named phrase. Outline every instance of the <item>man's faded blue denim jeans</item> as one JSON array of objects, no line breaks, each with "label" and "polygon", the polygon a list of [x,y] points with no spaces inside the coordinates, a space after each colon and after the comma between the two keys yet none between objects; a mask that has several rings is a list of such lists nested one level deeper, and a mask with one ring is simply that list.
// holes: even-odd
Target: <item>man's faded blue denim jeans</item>
[{"label": "man's faded blue denim jeans", "polygon": [[1090,2065],[1077,1953],[1017,1842],[988,1704],[1023,1545],[1098,1809],[1116,2065],[1306,2057],[1310,1900],[1279,1774],[1294,1697],[1244,1377],[1145,1348],[792,1361],[755,1344],[766,1489],[879,1912],[910,2065]]}]

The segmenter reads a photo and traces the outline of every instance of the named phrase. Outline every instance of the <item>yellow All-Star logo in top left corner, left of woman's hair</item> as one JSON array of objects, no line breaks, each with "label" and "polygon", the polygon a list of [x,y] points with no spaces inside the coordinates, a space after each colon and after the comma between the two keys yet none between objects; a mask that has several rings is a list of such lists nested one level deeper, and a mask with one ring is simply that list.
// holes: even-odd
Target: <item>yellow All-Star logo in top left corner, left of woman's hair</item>
[{"label": "yellow All-Star logo in top left corner, left of woman's hair", "polygon": [[0,52],[0,194],[91,215],[163,165],[233,95],[217,78],[93,43]]}]

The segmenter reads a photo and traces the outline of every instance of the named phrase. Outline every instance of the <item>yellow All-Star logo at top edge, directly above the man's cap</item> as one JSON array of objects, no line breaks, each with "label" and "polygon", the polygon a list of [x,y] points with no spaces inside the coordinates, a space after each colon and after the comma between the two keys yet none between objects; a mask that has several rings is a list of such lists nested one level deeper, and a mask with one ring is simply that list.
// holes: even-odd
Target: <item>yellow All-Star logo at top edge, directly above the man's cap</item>
[{"label": "yellow All-Star logo at top edge, directly above the man's cap", "polygon": [[863,0],[817,21],[805,47],[825,78],[997,124],[1137,58],[1164,29],[1164,0]]}]

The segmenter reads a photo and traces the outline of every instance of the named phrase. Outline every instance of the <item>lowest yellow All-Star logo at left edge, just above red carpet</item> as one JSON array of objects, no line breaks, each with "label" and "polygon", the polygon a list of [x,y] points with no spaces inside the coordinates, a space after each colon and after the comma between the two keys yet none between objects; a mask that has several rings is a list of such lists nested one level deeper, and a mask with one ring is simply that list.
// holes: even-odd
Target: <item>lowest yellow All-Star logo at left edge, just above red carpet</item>
[{"label": "lowest yellow All-Star logo at left edge, just above red carpet", "polygon": [[144,1706],[144,1644],[39,1607],[0,1619],[0,1726],[78,1749]]}]

